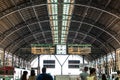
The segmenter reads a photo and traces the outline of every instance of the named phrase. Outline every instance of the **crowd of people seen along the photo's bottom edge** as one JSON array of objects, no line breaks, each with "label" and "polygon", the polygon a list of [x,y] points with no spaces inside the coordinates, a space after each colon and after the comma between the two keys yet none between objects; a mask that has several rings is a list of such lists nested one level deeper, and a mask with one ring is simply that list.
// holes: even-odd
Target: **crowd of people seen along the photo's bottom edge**
[{"label": "crowd of people seen along the photo's bottom edge", "polygon": [[[89,70],[89,72],[88,72]],[[54,80],[52,75],[46,73],[46,67],[42,68],[42,73],[37,75],[35,74],[34,70],[31,70],[30,76],[27,79],[27,71],[23,71],[23,75],[21,76],[20,80]],[[96,69],[84,67],[82,73],[79,74],[79,77],[76,80],[120,80],[120,71],[117,71],[117,75],[112,76],[112,78],[107,77],[106,74],[101,74],[101,77],[96,76]]]}]

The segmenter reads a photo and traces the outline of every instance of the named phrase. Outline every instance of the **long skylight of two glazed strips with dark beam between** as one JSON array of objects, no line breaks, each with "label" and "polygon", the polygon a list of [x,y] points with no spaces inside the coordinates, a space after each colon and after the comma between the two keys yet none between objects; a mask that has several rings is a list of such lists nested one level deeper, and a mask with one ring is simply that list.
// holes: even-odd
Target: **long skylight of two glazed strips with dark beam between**
[{"label": "long skylight of two glazed strips with dark beam between", "polygon": [[[58,2],[58,0],[48,0],[48,11],[54,44],[66,43],[74,7],[73,3],[74,0],[63,0],[63,2]],[[60,18],[58,15],[62,17]],[[62,22],[60,22],[60,20]]]}]

